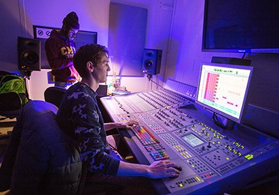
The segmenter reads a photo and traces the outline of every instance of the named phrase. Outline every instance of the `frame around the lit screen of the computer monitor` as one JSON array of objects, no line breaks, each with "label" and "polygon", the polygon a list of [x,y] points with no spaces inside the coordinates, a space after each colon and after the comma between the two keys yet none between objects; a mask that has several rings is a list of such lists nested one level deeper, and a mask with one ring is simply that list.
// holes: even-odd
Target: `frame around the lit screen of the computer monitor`
[{"label": "frame around the lit screen of the computer monitor", "polygon": [[[199,100],[200,96],[201,96],[201,87],[202,87],[202,79],[204,79],[204,77],[202,76],[202,70],[204,68],[204,65],[209,66],[211,68],[216,67],[216,68],[227,68],[227,70],[232,70],[233,69],[237,69],[237,70],[249,70],[249,76],[248,76],[248,81],[247,81],[247,85],[246,85],[246,90],[245,93],[243,95],[243,100],[242,100],[242,105],[241,105],[241,109],[240,109],[240,113],[239,113],[239,118],[236,118],[232,115],[229,115],[227,113],[225,113],[224,111],[222,111],[221,109],[216,109],[215,107],[211,107],[208,104],[205,104],[204,102],[202,102],[201,100]],[[198,82],[198,86],[197,86],[197,98],[195,100],[195,102],[199,105],[201,105],[202,107],[209,109],[210,111],[215,112],[216,114],[220,114],[221,116],[224,116],[225,118],[229,119],[229,120],[233,120],[236,123],[241,123],[241,120],[243,118],[243,111],[246,107],[246,100],[247,100],[247,95],[248,95],[248,91],[249,91],[249,86],[250,86],[250,81],[252,78],[252,70],[253,67],[252,66],[246,66],[246,65],[232,65],[232,64],[224,64],[224,63],[202,63],[200,71],[199,71],[199,82]],[[202,93],[204,94],[204,93]],[[204,99],[204,98],[202,98]]]}]

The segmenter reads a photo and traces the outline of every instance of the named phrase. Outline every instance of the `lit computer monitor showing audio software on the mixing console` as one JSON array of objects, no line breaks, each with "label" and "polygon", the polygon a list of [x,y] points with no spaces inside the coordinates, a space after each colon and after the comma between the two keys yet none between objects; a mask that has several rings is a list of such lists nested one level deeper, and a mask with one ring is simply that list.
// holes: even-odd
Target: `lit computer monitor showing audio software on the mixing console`
[{"label": "lit computer monitor showing audio software on the mixing console", "polygon": [[202,63],[196,102],[240,123],[251,76],[250,66]]}]

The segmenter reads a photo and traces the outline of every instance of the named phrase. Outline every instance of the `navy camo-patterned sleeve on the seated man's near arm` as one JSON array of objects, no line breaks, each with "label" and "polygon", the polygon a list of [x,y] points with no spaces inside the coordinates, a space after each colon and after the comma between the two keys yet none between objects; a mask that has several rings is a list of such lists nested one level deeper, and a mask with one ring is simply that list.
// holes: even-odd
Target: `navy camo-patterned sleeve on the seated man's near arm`
[{"label": "navy camo-patterned sleeve on the seated man's near arm", "polygon": [[65,123],[68,130],[72,129],[80,145],[82,161],[86,162],[92,173],[116,175],[119,159],[106,153],[105,127],[96,93],[84,84],[76,84],[68,90],[64,99],[59,110],[66,106],[68,120]]}]

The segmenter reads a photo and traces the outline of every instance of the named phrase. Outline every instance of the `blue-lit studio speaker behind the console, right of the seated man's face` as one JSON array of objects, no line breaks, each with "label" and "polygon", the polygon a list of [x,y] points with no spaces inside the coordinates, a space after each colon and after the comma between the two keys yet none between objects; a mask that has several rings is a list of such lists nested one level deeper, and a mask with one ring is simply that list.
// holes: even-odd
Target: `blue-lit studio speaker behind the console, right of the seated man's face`
[{"label": "blue-lit studio speaker behind the console, right of the seated man's face", "polygon": [[157,75],[160,72],[162,50],[144,49],[142,72],[148,75]]}]

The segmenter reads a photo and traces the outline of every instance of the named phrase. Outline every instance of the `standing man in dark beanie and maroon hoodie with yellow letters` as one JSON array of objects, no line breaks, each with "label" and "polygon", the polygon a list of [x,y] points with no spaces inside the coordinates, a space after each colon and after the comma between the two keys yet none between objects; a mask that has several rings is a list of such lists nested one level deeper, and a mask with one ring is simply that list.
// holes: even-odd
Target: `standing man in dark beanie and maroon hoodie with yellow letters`
[{"label": "standing man in dark beanie and maroon hoodie with yellow letters", "polygon": [[63,19],[61,30],[52,30],[45,42],[47,61],[54,75],[54,86],[68,88],[80,78],[73,65],[73,55],[76,50],[74,38],[79,29],[77,14],[68,13]]}]

